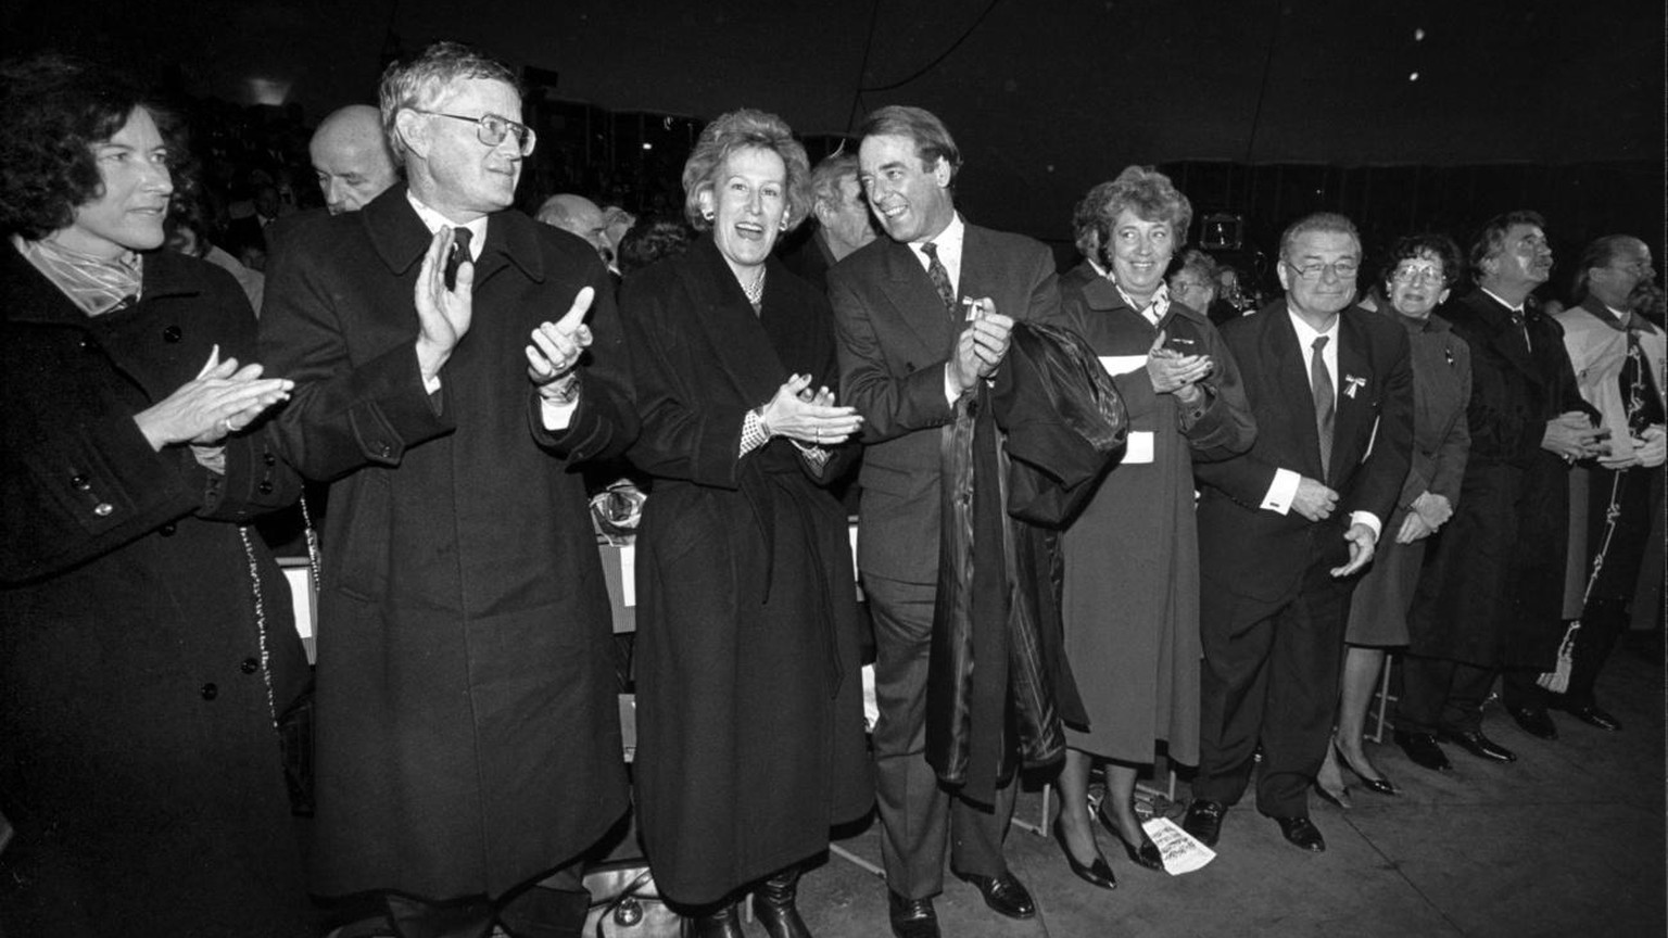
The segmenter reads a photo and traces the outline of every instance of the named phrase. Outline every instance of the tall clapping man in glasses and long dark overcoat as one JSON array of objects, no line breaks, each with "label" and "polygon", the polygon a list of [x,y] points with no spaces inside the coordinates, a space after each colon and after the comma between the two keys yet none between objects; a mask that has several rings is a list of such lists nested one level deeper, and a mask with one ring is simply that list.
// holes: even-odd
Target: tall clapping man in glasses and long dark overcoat
[{"label": "tall clapping man in glasses and long dark overcoat", "polygon": [[284,252],[262,319],[285,456],[330,481],[312,891],[380,895],[399,935],[577,935],[574,861],[626,809],[567,471],[636,432],[614,290],[505,210],[535,144],[509,68],[432,45],[380,113],[407,184]]}]

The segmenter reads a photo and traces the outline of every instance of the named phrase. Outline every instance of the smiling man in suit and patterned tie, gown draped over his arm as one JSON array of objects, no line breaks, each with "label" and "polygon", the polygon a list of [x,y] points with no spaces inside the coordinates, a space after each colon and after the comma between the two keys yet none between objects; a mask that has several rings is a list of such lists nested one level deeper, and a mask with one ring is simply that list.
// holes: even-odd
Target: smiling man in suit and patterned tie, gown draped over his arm
[{"label": "smiling man in suit and patterned tie, gown draped over his arm", "polygon": [[[829,270],[841,396],[864,417],[857,569],[876,631],[874,728],[881,850],[901,938],[936,936],[951,868],[1009,918],[1036,906],[1007,870],[1014,778],[994,804],[941,788],[926,759],[926,684],[939,561],[939,446],[952,409],[996,372],[1016,319],[1059,307],[1042,244],[969,225],[951,185],[961,152],[932,113],[884,107],[864,122],[859,172],[881,227]],[[964,314],[961,297],[981,312]]]}]

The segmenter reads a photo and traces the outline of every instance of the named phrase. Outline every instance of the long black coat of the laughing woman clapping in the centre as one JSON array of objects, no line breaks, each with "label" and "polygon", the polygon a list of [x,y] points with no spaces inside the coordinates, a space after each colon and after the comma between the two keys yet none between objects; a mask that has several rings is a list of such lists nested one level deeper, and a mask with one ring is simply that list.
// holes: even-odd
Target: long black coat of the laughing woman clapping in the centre
[{"label": "long black coat of the laughing woman clapping in the centre", "polygon": [[787,439],[737,456],[789,374],[836,386],[832,315],[771,260],[754,315],[711,239],[626,280],[654,477],[637,532],[637,758],[657,885],[691,905],[806,860],[872,803],[846,512]]}]

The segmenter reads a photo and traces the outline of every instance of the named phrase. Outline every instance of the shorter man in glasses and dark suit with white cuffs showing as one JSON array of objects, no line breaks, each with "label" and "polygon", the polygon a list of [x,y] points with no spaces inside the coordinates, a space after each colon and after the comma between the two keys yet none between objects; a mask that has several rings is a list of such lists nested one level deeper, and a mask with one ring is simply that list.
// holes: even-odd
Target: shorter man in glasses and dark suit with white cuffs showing
[{"label": "shorter man in glasses and dark suit with white cuffs showing", "polygon": [[1201,462],[1199,774],[1183,826],[1214,845],[1251,781],[1258,811],[1321,851],[1308,788],[1331,739],[1353,574],[1373,559],[1413,444],[1406,330],[1351,305],[1361,239],[1316,214],[1281,237],[1284,299],[1228,322],[1256,444]]}]

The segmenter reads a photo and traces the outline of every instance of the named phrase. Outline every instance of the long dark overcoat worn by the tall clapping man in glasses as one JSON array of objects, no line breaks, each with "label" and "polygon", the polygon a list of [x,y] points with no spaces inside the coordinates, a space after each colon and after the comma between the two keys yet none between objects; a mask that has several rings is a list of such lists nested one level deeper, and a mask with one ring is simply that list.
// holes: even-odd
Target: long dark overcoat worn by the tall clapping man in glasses
[{"label": "long dark overcoat worn by the tall clapping man in glasses", "polygon": [[[287,456],[332,481],[314,886],[500,896],[626,809],[609,599],[569,471],[634,431],[610,394],[612,289],[584,242],[492,215],[474,320],[430,399],[412,350],[430,235],[405,189],[307,235],[274,259],[260,329],[299,382]],[[522,349],[584,285],[594,366],[542,447]]]}]

